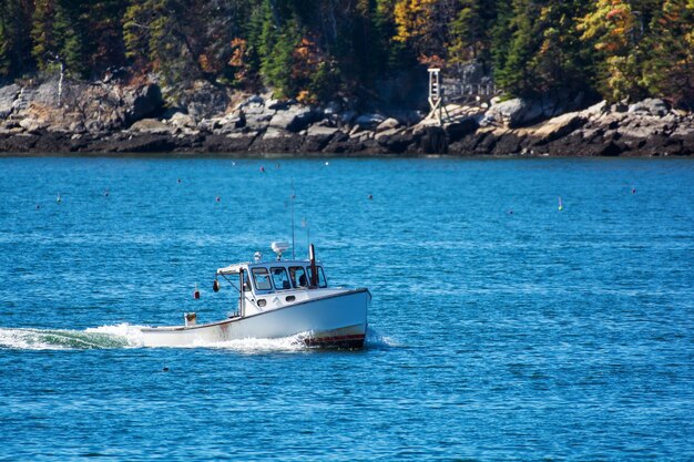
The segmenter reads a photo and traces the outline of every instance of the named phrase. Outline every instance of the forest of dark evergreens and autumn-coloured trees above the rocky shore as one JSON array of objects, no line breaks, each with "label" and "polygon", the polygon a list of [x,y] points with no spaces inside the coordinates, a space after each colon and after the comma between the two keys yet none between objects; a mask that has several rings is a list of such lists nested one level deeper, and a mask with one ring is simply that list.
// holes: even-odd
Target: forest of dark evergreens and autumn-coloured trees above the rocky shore
[{"label": "forest of dark evergreens and autumn-coloured trees above the rocky shore", "polygon": [[477,60],[510,95],[694,102],[694,0],[0,0],[0,76],[126,68],[320,101]]}]

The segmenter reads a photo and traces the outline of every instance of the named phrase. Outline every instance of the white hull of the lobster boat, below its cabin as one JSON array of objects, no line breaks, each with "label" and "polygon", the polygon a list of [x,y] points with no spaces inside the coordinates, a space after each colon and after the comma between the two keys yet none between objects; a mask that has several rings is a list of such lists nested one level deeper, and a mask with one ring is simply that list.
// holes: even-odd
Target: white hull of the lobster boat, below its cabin
[{"label": "white hull of the lobster boat, below its cabin", "polygon": [[196,326],[143,328],[145,347],[186,347],[298,333],[308,346],[361,348],[366,337],[367,289],[345,290],[243,318]]}]

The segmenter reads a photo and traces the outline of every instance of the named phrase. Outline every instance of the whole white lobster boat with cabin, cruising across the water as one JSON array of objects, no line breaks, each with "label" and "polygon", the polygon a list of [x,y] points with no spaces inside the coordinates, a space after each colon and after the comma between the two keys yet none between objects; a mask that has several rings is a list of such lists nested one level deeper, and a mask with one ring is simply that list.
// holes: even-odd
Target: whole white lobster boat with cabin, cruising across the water
[{"label": "whole white lobster boat with cabin, cruising across the water", "polygon": [[310,245],[308,260],[283,260],[286,243],[273,243],[275,261],[239,263],[220,268],[213,288],[222,277],[237,289],[233,316],[197,324],[195,314],[185,314],[183,326],[142,328],[146,347],[183,347],[248,338],[283,338],[304,335],[309,346],[361,348],[367,329],[371,294],[366,288],[328,287],[323,265]]}]

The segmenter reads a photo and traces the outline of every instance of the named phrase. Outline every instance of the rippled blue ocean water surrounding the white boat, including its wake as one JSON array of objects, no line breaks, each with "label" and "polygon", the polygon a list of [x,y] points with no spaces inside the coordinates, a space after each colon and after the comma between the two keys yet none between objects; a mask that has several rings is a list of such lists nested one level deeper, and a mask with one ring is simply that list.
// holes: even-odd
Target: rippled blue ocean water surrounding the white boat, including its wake
[{"label": "rippled blue ocean water surrounding the white boat, including its wake", "polygon": [[[366,348],[142,348],[292,185]],[[694,460],[693,204],[690,160],[1,158],[0,460]]]}]

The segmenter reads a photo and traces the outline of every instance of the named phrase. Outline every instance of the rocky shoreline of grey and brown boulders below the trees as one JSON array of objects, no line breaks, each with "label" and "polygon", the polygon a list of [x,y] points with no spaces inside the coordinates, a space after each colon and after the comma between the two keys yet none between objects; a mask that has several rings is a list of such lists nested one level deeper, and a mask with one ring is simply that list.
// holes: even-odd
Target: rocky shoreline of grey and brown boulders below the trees
[{"label": "rocky shoreline of grey and brown boulders below the trees", "polygon": [[510,100],[421,112],[358,113],[346,102],[243,99],[204,84],[171,105],[154,83],[54,81],[0,88],[4,155],[180,153],[263,155],[688,156],[694,114],[662,100],[571,105]]}]

